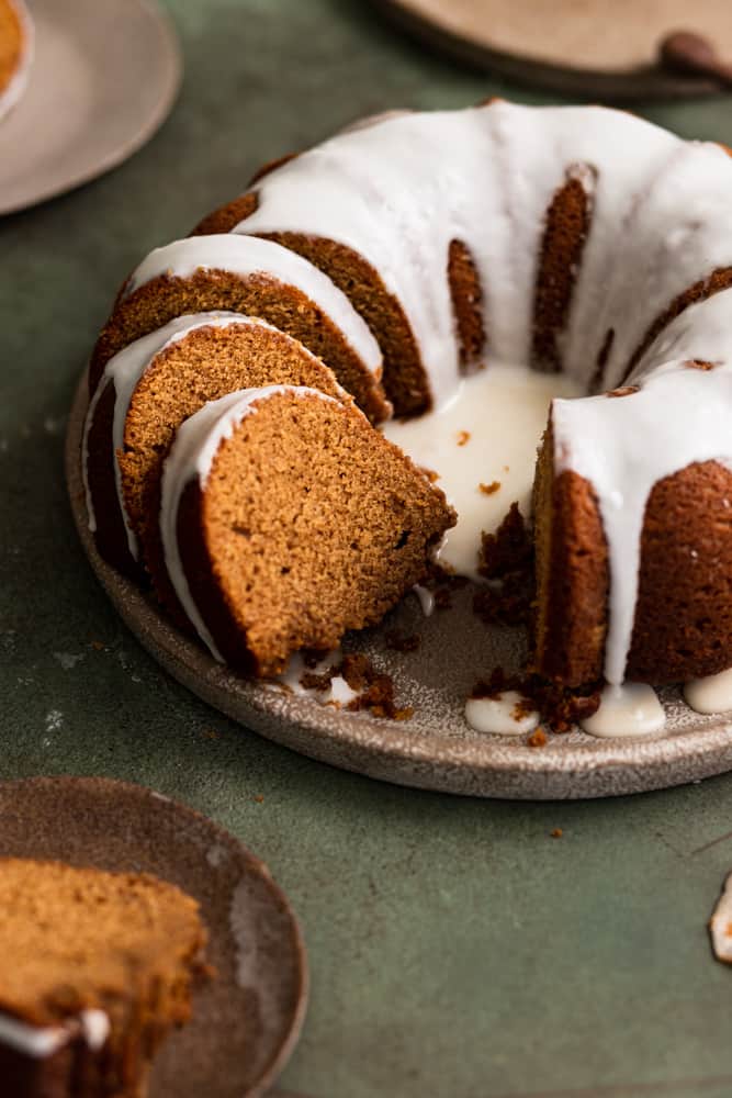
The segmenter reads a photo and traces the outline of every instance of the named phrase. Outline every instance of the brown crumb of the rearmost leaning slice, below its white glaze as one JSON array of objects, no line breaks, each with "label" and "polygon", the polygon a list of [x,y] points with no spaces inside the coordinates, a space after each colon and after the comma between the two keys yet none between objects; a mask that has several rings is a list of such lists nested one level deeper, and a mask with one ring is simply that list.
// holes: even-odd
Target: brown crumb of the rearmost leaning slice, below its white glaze
[{"label": "brown crumb of the rearmost leaning slice, below its white glaze", "polygon": [[243,278],[216,269],[200,269],[190,278],[160,274],[119,301],[91,356],[90,391],[97,389],[106,362],[134,339],[176,316],[216,310],[261,317],[300,339],[330,367],[369,418],[380,423],[388,415],[380,380],[315,302],[266,274]]}]

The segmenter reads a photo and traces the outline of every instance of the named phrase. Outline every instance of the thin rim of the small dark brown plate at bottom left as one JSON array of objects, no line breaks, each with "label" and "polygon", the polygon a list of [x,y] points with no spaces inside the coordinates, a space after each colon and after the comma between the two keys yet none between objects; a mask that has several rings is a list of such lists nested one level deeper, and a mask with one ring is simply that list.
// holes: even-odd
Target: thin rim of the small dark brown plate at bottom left
[{"label": "thin rim of the small dark brown plate at bottom left", "polygon": [[146,800],[155,798],[156,800],[165,802],[167,805],[170,805],[171,808],[174,808],[177,811],[192,818],[198,825],[203,825],[209,831],[211,831],[213,838],[222,839],[227,843],[234,843],[238,852],[244,856],[245,861],[250,866],[252,874],[257,874],[267,882],[267,887],[277,904],[286,914],[290,923],[293,956],[297,966],[297,1001],[295,1004],[292,1018],[290,1019],[286,1035],[278,1049],[277,1054],[266,1066],[260,1078],[241,1095],[241,1098],[260,1098],[260,1096],[266,1095],[284,1071],[285,1065],[297,1046],[307,1015],[311,995],[309,962],[302,927],[288,895],[272,876],[267,863],[252,853],[238,836],[228,831],[216,820],[211,819],[210,816],[205,816],[196,808],[179,800],[178,797],[161,794],[159,791],[149,785],[139,784],[137,782],[128,782],[124,778],[108,777],[104,774],[33,774],[25,777],[0,778],[0,794],[4,791],[21,791],[29,787],[40,786],[60,788],[64,791],[69,787],[82,789],[93,788],[101,789],[104,795],[109,796],[122,793],[126,797],[143,798]]}]

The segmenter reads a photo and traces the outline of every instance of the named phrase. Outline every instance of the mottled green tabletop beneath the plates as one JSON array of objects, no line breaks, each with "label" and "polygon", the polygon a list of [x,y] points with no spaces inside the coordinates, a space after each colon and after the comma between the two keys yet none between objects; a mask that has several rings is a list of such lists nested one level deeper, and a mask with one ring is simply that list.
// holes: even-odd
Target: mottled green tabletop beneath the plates
[{"label": "mottled green tabletop beneath the plates", "polygon": [[[183,235],[261,161],[357,115],[489,92],[541,101],[424,54],[356,2],[170,8],[187,76],[160,134],[111,176],[0,220],[0,773],[151,785],[269,863],[313,970],[282,1079],[293,1090],[731,1095],[732,971],[712,961],[705,925],[732,869],[732,776],[519,805],[340,773],[199,703],[94,581],[65,496],[64,425],[112,294],[139,257]],[[732,144],[728,98],[642,113]]]}]

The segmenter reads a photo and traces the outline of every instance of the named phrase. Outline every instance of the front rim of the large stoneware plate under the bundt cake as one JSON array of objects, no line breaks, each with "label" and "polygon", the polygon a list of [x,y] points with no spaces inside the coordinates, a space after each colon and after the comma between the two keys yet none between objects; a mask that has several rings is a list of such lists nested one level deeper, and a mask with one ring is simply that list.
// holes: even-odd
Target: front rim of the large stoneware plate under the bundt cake
[{"label": "front rim of the large stoneware plate under the bundt cake", "polygon": [[[237,676],[217,663],[193,639],[171,625],[134,581],[122,576],[97,552],[87,522],[81,473],[81,439],[88,403],[85,370],[74,397],[65,445],[67,490],[85,556],[124,624],[162,670],[245,729],[318,762],[367,777],[435,792],[499,799],[626,796],[686,785],[732,771],[732,714],[705,728],[669,737],[600,739],[593,740],[592,747],[573,743],[564,748],[561,755],[545,750],[527,751],[523,744],[519,748],[504,742],[502,758],[493,759],[489,751],[480,750],[476,744],[492,742],[495,738],[462,740],[442,733],[438,758],[435,738],[429,741],[423,737],[397,738],[393,735],[393,721],[379,720],[364,713],[340,710],[337,731],[334,731],[323,718],[331,717],[335,710],[304,696],[288,697],[295,715],[283,718],[278,713],[281,706],[275,704],[278,698],[285,696],[282,692]],[[363,735],[364,730],[373,733],[374,729],[383,729],[375,741],[373,735]],[[435,729],[435,737],[439,736],[440,730]],[[643,760],[638,759],[634,750],[640,743],[645,749]],[[564,765],[558,765],[560,758]]]}]

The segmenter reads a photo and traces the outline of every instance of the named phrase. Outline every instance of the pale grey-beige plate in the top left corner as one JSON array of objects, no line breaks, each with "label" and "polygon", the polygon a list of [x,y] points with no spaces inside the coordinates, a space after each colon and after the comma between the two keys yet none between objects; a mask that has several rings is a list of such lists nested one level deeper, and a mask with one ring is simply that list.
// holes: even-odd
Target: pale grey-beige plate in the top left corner
[{"label": "pale grey-beige plate in the top left corner", "polygon": [[116,167],[167,117],[180,86],[172,26],[153,0],[30,0],[35,58],[0,122],[0,214]]}]

